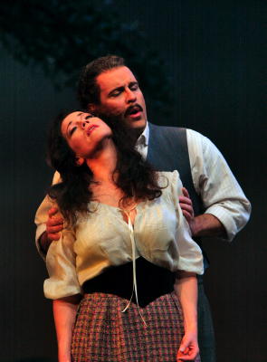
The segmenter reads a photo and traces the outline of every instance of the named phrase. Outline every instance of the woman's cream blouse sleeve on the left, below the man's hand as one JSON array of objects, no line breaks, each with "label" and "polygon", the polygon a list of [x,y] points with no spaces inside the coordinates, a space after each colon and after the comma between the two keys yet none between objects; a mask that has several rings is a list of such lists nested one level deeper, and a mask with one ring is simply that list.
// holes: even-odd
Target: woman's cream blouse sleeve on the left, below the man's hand
[{"label": "woman's cream blouse sleeve on the left, below the man's hand", "polygon": [[43,284],[46,298],[57,300],[82,293],[76,273],[74,242],[75,234],[70,230],[63,230],[61,239],[50,245],[46,256],[50,278]]}]

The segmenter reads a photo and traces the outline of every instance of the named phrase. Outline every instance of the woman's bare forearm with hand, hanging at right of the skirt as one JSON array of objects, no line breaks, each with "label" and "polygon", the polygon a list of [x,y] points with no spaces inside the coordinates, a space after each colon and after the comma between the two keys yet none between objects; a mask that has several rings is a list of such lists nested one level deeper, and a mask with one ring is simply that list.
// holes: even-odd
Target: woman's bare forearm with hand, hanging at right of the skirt
[{"label": "woman's bare forearm with hand, hanging at right of the skirt", "polygon": [[177,353],[177,362],[193,360],[197,343],[197,280],[194,272],[178,271],[175,291],[184,314],[185,335]]}]

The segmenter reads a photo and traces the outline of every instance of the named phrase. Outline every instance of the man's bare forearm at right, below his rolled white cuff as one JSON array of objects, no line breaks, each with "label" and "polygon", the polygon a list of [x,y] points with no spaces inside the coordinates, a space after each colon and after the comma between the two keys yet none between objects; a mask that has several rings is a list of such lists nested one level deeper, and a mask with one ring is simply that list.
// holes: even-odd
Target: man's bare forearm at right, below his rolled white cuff
[{"label": "man's bare forearm at right, below his rolled white cuff", "polygon": [[213,214],[201,214],[195,216],[190,224],[192,235],[226,237],[224,225]]}]

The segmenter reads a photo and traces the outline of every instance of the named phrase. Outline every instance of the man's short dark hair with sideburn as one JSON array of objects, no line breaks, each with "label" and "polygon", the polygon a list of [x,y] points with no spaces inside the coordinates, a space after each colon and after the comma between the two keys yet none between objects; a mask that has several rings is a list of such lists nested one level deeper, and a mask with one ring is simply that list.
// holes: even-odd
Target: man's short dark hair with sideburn
[{"label": "man's short dark hair with sideburn", "polygon": [[100,87],[96,78],[104,71],[125,66],[124,59],[118,55],[107,55],[95,59],[81,71],[78,81],[78,100],[81,108],[87,110],[90,103],[100,104]]}]

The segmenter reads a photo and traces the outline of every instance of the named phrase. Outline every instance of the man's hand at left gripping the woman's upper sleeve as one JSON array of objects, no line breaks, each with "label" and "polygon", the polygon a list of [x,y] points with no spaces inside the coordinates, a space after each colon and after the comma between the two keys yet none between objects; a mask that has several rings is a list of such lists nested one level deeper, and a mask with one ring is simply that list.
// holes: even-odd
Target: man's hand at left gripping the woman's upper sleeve
[{"label": "man's hand at left gripping the woman's upper sleeve", "polygon": [[61,237],[60,233],[63,229],[64,220],[60,214],[56,215],[58,211],[57,207],[52,207],[49,210],[46,222],[46,232],[44,232],[39,239],[40,247],[44,254],[47,253],[52,241],[57,241]]}]

